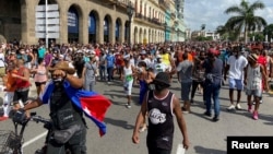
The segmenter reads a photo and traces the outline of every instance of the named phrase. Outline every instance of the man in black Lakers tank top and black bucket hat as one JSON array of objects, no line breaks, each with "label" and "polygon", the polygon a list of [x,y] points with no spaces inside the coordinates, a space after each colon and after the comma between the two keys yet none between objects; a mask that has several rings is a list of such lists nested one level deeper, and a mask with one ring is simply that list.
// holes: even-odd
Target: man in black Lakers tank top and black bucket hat
[{"label": "man in black Lakers tank top and black bucket hat", "polygon": [[139,130],[145,115],[149,117],[149,129],[146,145],[149,154],[170,154],[174,138],[174,115],[183,135],[183,147],[189,147],[186,121],[183,119],[179,99],[168,87],[170,86],[170,76],[168,73],[159,72],[153,81],[154,91],[149,91],[144,97],[141,110],[135,121],[132,142],[140,142]]}]

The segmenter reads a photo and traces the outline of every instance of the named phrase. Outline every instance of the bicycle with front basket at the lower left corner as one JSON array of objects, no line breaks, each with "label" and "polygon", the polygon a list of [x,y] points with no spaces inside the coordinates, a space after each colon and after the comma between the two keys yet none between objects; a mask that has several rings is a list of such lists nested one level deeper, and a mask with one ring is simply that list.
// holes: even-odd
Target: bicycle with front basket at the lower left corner
[{"label": "bicycle with front basket at the lower left corner", "polygon": [[[48,130],[48,134],[46,138],[46,143],[49,139],[49,132],[51,131],[51,121],[45,119],[40,116],[36,116],[36,112],[31,112],[29,118],[25,118],[22,122],[19,122],[12,119],[14,125],[14,131],[12,130],[0,130],[0,154],[23,154],[22,145],[24,143],[24,131],[28,121],[41,122],[44,123],[44,128]],[[17,126],[21,125],[21,130],[19,132]],[[40,149],[36,150],[35,154],[45,154],[46,153],[46,144]]]}]

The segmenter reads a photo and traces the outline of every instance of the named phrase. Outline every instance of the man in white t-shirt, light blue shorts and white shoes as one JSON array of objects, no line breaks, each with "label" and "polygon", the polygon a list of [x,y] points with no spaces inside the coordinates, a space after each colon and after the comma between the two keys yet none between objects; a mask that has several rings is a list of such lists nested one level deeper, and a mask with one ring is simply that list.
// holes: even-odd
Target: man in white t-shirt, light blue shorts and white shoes
[{"label": "man in white t-shirt, light blue shorts and white shoes", "polygon": [[[241,48],[239,46],[235,46],[233,48],[233,55],[228,58],[227,64],[225,68],[224,79],[226,80],[226,75],[228,72],[228,82],[229,82],[229,100],[230,106],[227,110],[238,109],[240,110],[240,96],[241,91],[244,90],[244,70],[248,64],[248,60],[240,54]],[[234,90],[237,90],[237,100],[236,105],[234,103]]]}]

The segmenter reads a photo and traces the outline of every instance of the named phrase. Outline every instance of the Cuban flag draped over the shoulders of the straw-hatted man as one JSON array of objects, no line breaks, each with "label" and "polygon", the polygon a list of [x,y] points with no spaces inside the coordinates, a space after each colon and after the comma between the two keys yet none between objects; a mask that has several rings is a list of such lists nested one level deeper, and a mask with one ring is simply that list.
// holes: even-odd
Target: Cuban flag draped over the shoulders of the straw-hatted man
[{"label": "Cuban flag draped over the shoulders of the straw-hatted man", "polygon": [[[54,91],[55,84],[49,82],[45,88],[45,93],[40,96],[43,103],[49,102],[50,95]],[[103,137],[106,133],[106,125],[104,122],[105,114],[110,107],[111,103],[108,98],[95,92],[83,91],[70,86],[70,83],[64,81],[63,87],[71,102],[82,109],[86,117],[88,117],[99,128],[99,134]]]}]

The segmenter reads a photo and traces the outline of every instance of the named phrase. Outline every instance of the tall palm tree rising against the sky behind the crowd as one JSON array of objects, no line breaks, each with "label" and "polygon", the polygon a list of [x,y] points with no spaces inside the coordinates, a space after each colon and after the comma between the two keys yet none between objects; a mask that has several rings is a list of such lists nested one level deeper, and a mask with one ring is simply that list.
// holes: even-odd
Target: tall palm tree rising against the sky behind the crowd
[{"label": "tall palm tree rising against the sky behind the crowd", "polygon": [[244,29],[245,43],[247,43],[249,31],[256,31],[257,27],[266,26],[266,21],[263,17],[254,15],[254,11],[264,8],[264,3],[261,1],[249,4],[249,2],[242,0],[240,5],[233,5],[225,11],[227,14],[237,14],[228,19],[226,25],[228,25],[230,29],[239,29],[239,32]]}]

